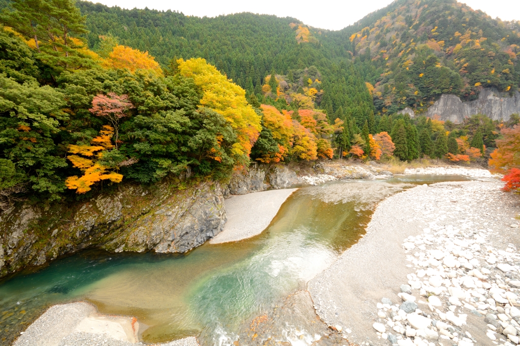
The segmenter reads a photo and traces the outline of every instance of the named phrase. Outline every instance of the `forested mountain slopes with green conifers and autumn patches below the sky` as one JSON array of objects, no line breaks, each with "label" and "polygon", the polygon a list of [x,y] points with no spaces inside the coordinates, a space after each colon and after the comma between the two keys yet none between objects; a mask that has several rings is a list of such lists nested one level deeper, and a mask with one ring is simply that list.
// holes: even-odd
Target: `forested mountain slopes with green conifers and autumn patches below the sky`
[{"label": "forested mountain slopes with green conifers and autumn patches below the sky", "polygon": [[100,35],[111,34],[121,44],[148,50],[162,64],[174,57],[203,57],[246,90],[258,92],[258,82],[271,70],[287,75],[317,66],[326,90],[319,106],[334,112],[340,106],[367,112],[361,100],[351,100],[359,93],[349,88],[358,71],[375,88],[379,114],[405,107],[421,113],[443,92],[471,100],[482,87],[508,91],[520,84],[518,22],[491,19],[454,0],[397,0],[335,32],[294,18],[246,13],[198,18],[89,2],[79,6],[87,15],[90,47],[99,45]]}]

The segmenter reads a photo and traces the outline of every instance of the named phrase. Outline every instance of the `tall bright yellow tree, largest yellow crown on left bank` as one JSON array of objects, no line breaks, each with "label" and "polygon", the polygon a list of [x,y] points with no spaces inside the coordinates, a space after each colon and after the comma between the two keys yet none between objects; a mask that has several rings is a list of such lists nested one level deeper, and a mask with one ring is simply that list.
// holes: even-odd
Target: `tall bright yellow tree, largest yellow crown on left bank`
[{"label": "tall bright yellow tree, largest yellow crown on left bank", "polygon": [[193,78],[195,84],[202,89],[204,95],[200,107],[206,107],[222,114],[236,131],[238,142],[233,144],[232,153],[249,159],[251,148],[257,140],[262,126],[260,116],[245,99],[245,90],[210,65],[205,59],[177,60],[181,75]]}]

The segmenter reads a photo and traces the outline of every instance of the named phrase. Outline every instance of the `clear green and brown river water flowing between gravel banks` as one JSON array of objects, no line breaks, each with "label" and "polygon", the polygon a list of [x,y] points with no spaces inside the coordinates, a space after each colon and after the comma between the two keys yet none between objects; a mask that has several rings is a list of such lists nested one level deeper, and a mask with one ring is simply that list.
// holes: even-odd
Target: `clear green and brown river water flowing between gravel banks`
[{"label": "clear green and brown river water flowing between gravel banks", "polygon": [[305,288],[357,242],[377,202],[411,182],[442,178],[306,187],[251,239],[204,244],[184,255],[85,251],[20,273],[0,284],[0,344],[10,344],[49,305],[76,300],[88,300],[102,313],[136,316],[148,327],[141,334],[145,342],[195,335],[204,344],[231,344],[244,321]]}]

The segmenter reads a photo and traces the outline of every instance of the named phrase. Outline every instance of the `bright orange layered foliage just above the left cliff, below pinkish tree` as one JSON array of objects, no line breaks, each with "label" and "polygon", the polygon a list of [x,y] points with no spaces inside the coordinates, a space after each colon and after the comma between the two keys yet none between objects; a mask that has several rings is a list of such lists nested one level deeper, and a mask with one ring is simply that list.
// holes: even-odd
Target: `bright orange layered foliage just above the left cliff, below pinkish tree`
[{"label": "bright orange layered foliage just above the left cliff, below pinkish tree", "polygon": [[109,167],[97,162],[103,155],[102,151],[114,148],[110,140],[113,134],[114,129],[105,125],[101,130],[101,135],[92,140],[91,143],[94,145],[69,145],[70,153],[82,155],[69,155],[67,159],[75,168],[79,168],[83,172],[83,176],[67,178],[65,181],[67,188],[76,190],[76,193],[85,193],[90,191],[90,187],[97,181],[121,182],[123,175],[109,171]]}]

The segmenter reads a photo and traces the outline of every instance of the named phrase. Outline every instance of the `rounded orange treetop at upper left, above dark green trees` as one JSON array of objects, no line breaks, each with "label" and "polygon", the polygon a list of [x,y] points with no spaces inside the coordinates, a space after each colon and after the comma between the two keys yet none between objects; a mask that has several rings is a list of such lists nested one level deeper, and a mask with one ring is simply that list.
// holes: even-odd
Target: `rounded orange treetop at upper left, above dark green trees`
[{"label": "rounded orange treetop at upper left, above dark green trees", "polygon": [[102,65],[108,69],[128,69],[132,73],[136,70],[151,70],[159,75],[163,74],[159,63],[147,51],[142,52],[121,45],[113,48],[108,58],[103,60]]}]

